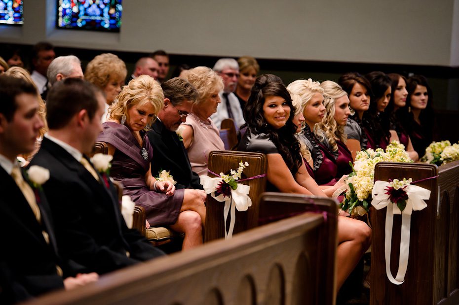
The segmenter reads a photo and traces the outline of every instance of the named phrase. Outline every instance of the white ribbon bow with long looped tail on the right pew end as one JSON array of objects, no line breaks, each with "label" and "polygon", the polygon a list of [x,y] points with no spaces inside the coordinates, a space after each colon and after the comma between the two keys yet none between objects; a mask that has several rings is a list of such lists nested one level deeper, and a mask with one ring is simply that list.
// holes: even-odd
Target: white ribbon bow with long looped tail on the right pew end
[{"label": "white ribbon bow with long looped tail on the right pew end", "polygon": [[[372,191],[371,204],[380,210],[387,207],[385,216],[385,239],[384,239],[384,255],[385,255],[385,271],[389,281],[395,285],[400,285],[405,281],[406,269],[408,267],[408,254],[410,251],[410,228],[411,228],[411,213],[420,211],[427,206],[424,200],[430,198],[430,191],[416,185],[408,185],[405,192],[408,195],[406,206],[401,211],[398,206],[390,202],[390,195],[385,194],[389,188],[389,182],[376,181]],[[389,204],[390,203],[390,204]],[[394,214],[402,215],[402,229],[400,238],[400,258],[398,263],[398,271],[395,278],[390,271],[390,251],[392,245],[392,226]]]}]

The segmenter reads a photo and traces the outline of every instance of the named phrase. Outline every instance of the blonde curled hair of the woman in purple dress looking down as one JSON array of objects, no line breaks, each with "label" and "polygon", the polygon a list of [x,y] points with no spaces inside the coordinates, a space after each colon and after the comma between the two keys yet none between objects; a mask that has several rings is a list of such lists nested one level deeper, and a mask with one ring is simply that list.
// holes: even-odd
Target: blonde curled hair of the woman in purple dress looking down
[{"label": "blonde curled hair of the woman in purple dress looking down", "polygon": [[[151,104],[154,114],[157,115],[164,107],[164,94],[161,86],[153,77],[149,75],[140,75],[132,79],[123,90],[116,96],[115,102],[109,108],[111,120],[121,122],[121,117],[128,114],[128,110],[134,106],[143,106]],[[148,122],[145,130],[149,130],[155,117]]]}]

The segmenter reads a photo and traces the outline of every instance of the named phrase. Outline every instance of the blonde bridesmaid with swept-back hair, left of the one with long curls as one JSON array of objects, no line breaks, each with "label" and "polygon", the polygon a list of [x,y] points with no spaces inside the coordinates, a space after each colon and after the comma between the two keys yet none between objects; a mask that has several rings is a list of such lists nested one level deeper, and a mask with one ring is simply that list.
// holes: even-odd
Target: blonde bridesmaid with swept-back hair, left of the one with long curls
[{"label": "blonde bridesmaid with swept-back hair, left of the one with long curls", "polygon": [[312,156],[312,169],[315,181],[319,185],[334,185],[337,182],[335,177],[338,173],[338,149],[332,150],[325,133],[316,124],[322,122],[325,116],[323,105],[324,90],[319,82],[311,79],[299,79],[288,85],[290,92],[300,95],[305,104],[303,114],[306,119],[304,128],[305,136]]}]

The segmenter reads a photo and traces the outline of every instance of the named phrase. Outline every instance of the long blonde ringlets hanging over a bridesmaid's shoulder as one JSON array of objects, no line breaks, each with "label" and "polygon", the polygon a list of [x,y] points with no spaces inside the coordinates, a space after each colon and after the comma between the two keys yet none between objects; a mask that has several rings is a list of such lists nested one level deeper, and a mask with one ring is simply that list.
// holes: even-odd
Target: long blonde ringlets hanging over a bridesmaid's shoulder
[{"label": "long blonde ringlets hanging over a bridesmaid's shoulder", "polygon": [[324,89],[325,116],[318,125],[325,132],[330,146],[335,151],[338,149],[336,138],[339,138],[344,143],[347,140],[344,126],[338,126],[335,121],[335,102],[337,99],[347,95],[347,93],[340,85],[331,80],[322,82],[320,87]]}]

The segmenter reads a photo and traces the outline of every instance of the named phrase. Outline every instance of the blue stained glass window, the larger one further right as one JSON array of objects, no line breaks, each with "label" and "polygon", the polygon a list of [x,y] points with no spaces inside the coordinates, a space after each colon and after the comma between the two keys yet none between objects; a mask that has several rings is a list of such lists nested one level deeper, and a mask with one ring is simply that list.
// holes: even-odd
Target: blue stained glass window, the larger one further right
[{"label": "blue stained glass window, the larger one further right", "polygon": [[119,32],[121,27],[121,0],[57,0],[57,9],[61,29]]}]

